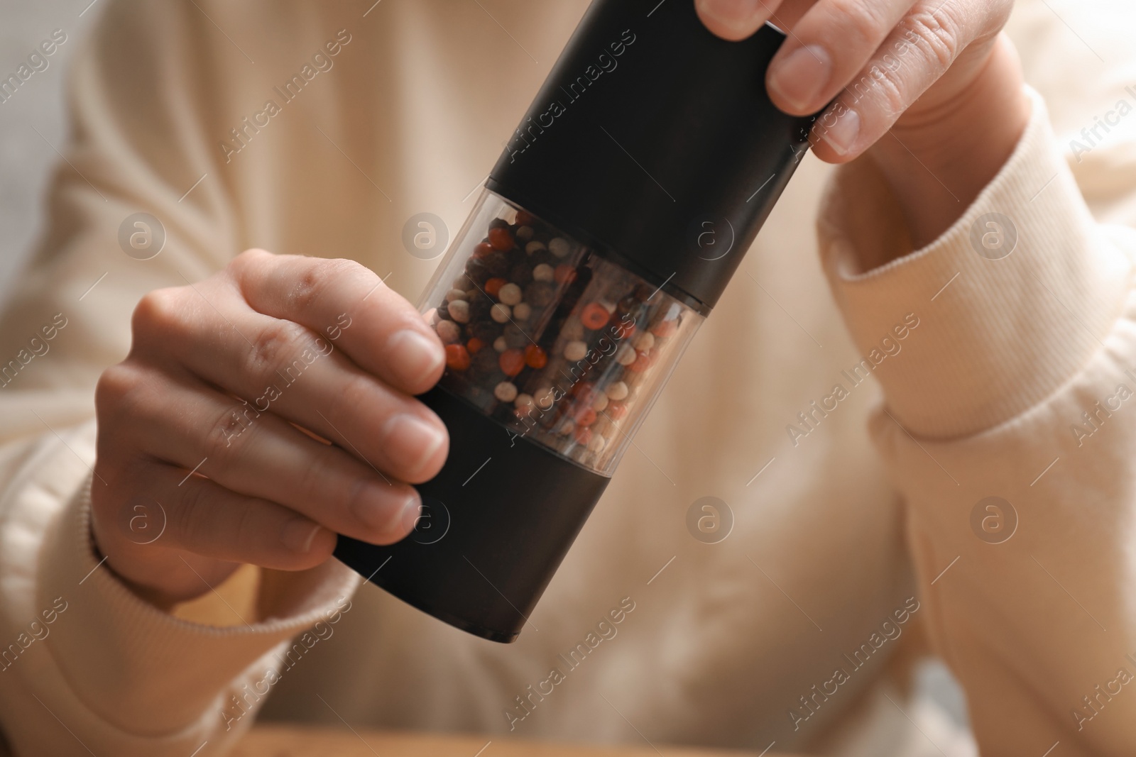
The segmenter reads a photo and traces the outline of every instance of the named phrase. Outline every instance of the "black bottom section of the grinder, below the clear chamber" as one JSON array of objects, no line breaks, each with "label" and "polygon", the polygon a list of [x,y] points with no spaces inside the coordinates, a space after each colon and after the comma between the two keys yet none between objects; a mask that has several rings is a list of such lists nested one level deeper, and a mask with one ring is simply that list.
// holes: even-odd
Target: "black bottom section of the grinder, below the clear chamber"
[{"label": "black bottom section of the grinder, below the clear chamber", "polygon": [[335,556],[450,625],[515,641],[610,479],[515,435],[445,389],[419,399],[445,419],[450,457],[416,487],[418,525],[385,547],[340,536]]}]

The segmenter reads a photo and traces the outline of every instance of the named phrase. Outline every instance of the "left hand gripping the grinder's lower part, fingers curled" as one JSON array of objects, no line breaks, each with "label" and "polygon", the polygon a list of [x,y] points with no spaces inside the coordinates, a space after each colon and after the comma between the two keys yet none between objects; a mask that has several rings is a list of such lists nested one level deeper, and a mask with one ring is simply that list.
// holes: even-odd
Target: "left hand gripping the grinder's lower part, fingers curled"
[{"label": "left hand gripping the grinder's lower part, fingers curled", "polygon": [[95,392],[99,550],[168,606],[241,563],[314,567],[336,533],[398,541],[419,513],[407,482],[445,461],[445,427],[411,396],[444,362],[414,306],[346,260],[249,250],[151,292]]}]

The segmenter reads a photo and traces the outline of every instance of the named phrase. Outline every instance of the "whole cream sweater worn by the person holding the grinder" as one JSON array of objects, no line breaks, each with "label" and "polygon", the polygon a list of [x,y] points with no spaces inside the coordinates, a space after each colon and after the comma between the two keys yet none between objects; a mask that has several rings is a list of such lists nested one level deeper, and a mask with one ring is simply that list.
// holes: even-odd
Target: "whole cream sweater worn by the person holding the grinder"
[{"label": "whole cream sweater worn by the person holding the grinder", "polygon": [[[416,300],[436,261],[403,251],[403,222],[460,226],[586,5],[371,1],[107,0],[70,72],[69,165],[0,326],[15,752],[219,755],[265,706],[487,739],[967,754],[909,701],[925,648],[984,754],[1136,751],[1127,0],[1020,3],[1033,118],[928,247],[904,246],[870,166],[803,162],[517,644],[334,561],[175,614],[100,566],[92,387],[139,297],[262,246],[353,258]],[[145,261],[118,244],[139,211],[167,234]],[[1000,260],[977,252],[993,212],[1017,230]],[[911,254],[855,274],[871,245]],[[716,545],[685,525],[708,495],[735,518]],[[999,512],[1014,529],[992,544]],[[584,663],[559,657],[621,604]],[[210,609],[227,617],[193,620]]]}]

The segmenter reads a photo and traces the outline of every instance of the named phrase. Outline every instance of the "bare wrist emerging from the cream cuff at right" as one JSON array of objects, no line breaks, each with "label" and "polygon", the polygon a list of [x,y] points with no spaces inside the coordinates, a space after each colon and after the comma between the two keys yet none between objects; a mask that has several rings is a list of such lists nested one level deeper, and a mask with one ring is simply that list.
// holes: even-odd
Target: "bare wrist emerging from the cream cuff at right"
[{"label": "bare wrist emerging from the cream cuff at right", "polygon": [[[889,185],[914,249],[950,228],[1013,153],[1029,121],[1022,87],[1017,53],[999,37],[966,86],[917,104],[864,153]],[[861,262],[867,270],[888,261]]]}]

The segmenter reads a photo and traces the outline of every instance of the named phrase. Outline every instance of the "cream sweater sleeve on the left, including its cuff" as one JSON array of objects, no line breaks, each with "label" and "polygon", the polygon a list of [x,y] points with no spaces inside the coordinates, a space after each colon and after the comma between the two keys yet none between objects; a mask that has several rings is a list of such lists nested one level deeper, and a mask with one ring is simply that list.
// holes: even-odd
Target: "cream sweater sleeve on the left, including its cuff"
[{"label": "cream sweater sleeve on the left, including its cuff", "polygon": [[[0,726],[20,756],[219,754],[289,639],[337,620],[359,583],[334,561],[269,573],[257,617],[215,628],[140,600],[90,541],[93,389],[130,348],[134,303],[244,246],[208,137],[229,53],[195,5],[102,9],[69,72],[48,230],[0,316]],[[160,254],[130,245],[136,213]]]}]

